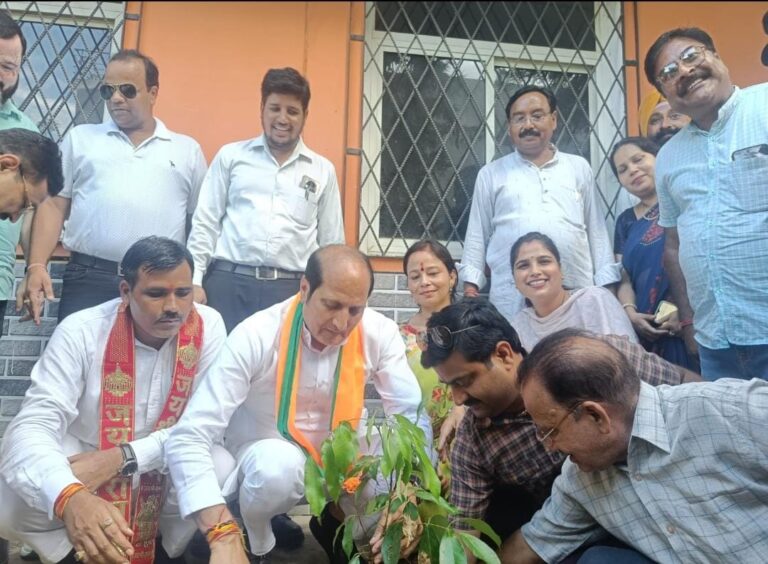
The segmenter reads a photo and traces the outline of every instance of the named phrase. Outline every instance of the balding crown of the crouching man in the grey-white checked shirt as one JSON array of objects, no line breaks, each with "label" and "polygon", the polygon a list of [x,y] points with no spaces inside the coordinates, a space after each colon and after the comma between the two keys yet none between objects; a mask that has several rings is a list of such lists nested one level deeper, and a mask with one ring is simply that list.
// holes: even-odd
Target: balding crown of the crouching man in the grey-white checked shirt
[{"label": "balding crown of the crouching man in the grey-white checked shirt", "polygon": [[539,341],[518,372],[522,389],[538,380],[557,403],[596,401],[634,411],[640,377],[617,349],[588,331],[565,329]]}]

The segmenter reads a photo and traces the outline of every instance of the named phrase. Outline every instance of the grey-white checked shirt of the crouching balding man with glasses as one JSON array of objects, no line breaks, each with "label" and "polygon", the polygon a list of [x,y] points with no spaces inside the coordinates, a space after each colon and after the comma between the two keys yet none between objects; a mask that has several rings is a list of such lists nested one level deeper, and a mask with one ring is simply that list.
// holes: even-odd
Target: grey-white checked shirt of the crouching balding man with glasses
[{"label": "grey-white checked shirt of the crouching balding man with glasses", "polygon": [[656,562],[765,562],[768,382],[642,383],[626,464],[567,459],[522,529],[547,562],[604,531]]}]

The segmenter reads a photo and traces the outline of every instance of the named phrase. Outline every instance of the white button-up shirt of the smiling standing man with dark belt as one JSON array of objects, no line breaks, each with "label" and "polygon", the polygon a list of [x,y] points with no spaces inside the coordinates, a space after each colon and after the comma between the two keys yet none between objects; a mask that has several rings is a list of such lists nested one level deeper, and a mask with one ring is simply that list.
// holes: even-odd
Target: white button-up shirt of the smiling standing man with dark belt
[{"label": "white button-up shirt of the smiling standing man with dark belt", "polygon": [[195,284],[202,285],[211,258],[303,272],[309,255],[332,243],[344,243],[344,224],[331,161],[299,140],[280,165],[263,135],[221,148],[187,243]]}]

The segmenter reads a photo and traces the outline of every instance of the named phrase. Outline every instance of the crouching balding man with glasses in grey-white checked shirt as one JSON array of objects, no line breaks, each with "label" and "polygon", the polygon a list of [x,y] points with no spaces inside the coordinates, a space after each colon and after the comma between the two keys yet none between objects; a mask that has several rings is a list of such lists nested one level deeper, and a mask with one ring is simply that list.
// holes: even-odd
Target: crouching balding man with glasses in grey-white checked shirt
[{"label": "crouching balding man with glasses in grey-white checked shirt", "polygon": [[566,329],[518,371],[548,448],[567,455],[552,496],[516,533],[505,564],[765,562],[768,382],[643,382],[613,342]]}]

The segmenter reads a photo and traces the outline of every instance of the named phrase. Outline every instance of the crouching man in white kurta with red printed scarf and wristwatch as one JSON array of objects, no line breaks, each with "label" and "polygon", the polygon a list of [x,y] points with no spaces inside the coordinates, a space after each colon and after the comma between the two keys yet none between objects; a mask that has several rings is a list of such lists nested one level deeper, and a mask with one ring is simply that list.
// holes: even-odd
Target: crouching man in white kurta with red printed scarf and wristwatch
[{"label": "crouching man in white kurta with red printed scarf and wristwatch", "polygon": [[[178,260],[170,268],[169,253],[170,262]],[[159,268],[158,256],[165,260]],[[32,546],[43,562],[64,559],[73,546],[76,551],[85,549],[73,542],[73,535],[81,535],[82,527],[76,530],[72,516],[66,510],[64,520],[54,516],[54,505],[63,489],[81,482],[94,491],[105,477],[115,476],[123,463],[120,449],[99,450],[102,362],[121,304],[128,304],[135,335],[134,439],[128,443],[138,463],[134,488],[141,474],[165,469],[163,448],[170,429],[155,430],[155,425],[169,395],[176,367],[176,337],[183,320],[195,307],[203,326],[193,392],[199,375],[208,369],[226,337],[221,316],[211,308],[192,303],[192,258],[183,246],[158,237],[143,239],[129,249],[123,265],[126,278],[132,269],[136,280],[131,284],[123,281],[121,298],[77,312],[56,328],[32,369],[32,385],[4,437],[0,536]],[[219,450],[223,453],[223,449]],[[79,463],[68,458],[73,455],[79,455]],[[230,466],[226,465],[227,458],[223,457],[224,475],[233,467],[231,458]],[[89,499],[76,499],[78,496]],[[67,510],[74,511],[80,503],[90,503],[88,507],[95,517],[99,512],[114,517],[109,514],[114,508],[88,491],[75,494]],[[88,519],[94,518],[82,514],[79,517],[85,519],[86,525]],[[119,521],[117,517],[113,520]],[[104,521],[101,517],[96,523]],[[105,534],[116,535],[116,526],[104,528]],[[172,556],[183,551],[195,530],[192,523],[179,518],[173,496],[162,510],[159,526],[164,546]],[[86,556],[97,559],[96,554],[87,551]]]}]

